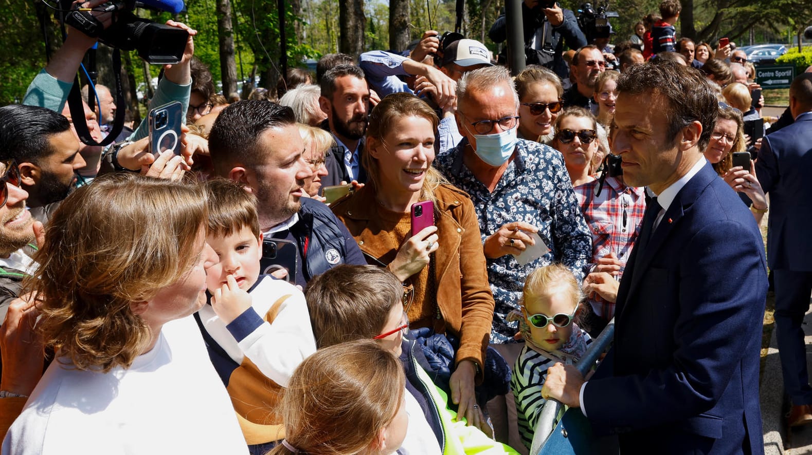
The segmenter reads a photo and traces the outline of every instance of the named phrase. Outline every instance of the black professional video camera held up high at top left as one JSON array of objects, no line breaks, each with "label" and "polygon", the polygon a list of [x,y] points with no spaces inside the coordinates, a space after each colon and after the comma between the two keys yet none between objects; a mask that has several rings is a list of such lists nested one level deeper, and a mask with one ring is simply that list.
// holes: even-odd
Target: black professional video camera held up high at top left
[{"label": "black professional video camera held up high at top left", "polygon": [[137,50],[140,58],[157,65],[180,62],[186,49],[188,32],[182,28],[155,24],[149,19],[136,16],[136,7],[149,7],[160,11],[179,13],[184,8],[180,0],[114,0],[93,8],[93,11],[106,11],[114,15],[114,22],[104,28],[90,11],[80,10],[79,4],[71,5],[71,0],[62,0],[63,11],[71,10],[64,18],[65,24],[76,28],[87,36],[97,37],[100,42],[122,50]]}]

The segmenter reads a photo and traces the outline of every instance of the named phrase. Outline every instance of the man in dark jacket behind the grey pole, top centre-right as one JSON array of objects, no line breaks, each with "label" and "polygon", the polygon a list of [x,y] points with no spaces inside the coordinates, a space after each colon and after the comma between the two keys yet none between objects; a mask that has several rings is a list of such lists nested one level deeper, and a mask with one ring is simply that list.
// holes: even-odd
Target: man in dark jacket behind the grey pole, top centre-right
[{"label": "man in dark jacket behind the grey pole, top centre-right", "polygon": [[[525,37],[525,55],[528,65],[537,64],[550,68],[563,80],[567,80],[569,70],[562,57],[564,42],[570,49],[586,45],[586,37],[572,11],[561,8],[555,0],[524,0],[521,4],[521,18]],[[508,37],[508,21],[500,15],[488,36],[495,43]],[[505,58],[507,47],[499,55],[500,62]]]}]

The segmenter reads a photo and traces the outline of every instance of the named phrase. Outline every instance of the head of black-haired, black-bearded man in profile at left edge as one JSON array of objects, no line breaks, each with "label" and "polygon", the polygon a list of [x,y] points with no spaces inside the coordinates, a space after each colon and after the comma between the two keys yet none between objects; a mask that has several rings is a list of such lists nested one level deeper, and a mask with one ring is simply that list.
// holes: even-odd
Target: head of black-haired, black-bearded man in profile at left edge
[{"label": "head of black-haired, black-bearded man in profile at left edge", "polygon": [[79,140],[71,123],[53,110],[31,105],[0,108],[0,160],[14,160],[20,187],[28,191],[28,207],[46,222],[59,201],[76,187],[76,171],[84,168]]}]

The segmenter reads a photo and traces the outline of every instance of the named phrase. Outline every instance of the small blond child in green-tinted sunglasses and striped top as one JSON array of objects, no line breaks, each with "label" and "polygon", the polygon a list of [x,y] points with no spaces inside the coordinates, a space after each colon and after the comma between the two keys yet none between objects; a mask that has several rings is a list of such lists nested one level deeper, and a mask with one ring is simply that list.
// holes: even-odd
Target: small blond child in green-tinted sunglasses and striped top
[{"label": "small blond child in green-tinted sunglasses and striped top", "polygon": [[537,268],[527,277],[521,311],[512,311],[525,339],[513,367],[511,388],[516,397],[521,440],[527,448],[545,400],[542,386],[547,368],[556,362],[575,363],[592,342],[575,324],[584,294],[572,272],[562,264]]}]

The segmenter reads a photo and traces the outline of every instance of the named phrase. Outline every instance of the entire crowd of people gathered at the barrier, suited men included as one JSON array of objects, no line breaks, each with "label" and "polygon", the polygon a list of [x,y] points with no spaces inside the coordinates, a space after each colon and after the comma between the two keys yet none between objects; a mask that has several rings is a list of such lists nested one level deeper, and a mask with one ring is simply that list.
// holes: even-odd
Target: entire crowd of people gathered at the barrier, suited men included
[{"label": "entire crowd of people gathered at the barrier, suited men included", "polygon": [[757,139],[752,65],[676,39],[680,2],[614,50],[542,3],[516,75],[427,31],[245,100],[168,21],[149,109],[181,105],[177,153],[148,122],[80,141],[126,106],[89,85],[71,118],[95,40],[69,28],[0,107],[2,453],[526,454],[551,398],[615,452],[762,453],[767,264],[812,423],[812,67]]}]

